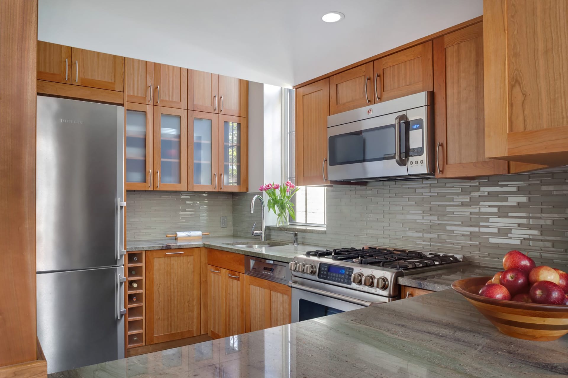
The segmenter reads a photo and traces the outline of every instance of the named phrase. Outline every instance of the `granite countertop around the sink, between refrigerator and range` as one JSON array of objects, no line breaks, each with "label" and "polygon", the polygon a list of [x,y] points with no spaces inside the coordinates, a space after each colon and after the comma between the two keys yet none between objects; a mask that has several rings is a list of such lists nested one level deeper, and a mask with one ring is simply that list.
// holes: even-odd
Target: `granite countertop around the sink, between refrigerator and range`
[{"label": "granite countertop around the sink, between refrigerator and range", "polygon": [[[291,239],[291,236],[290,236]],[[242,248],[233,245],[225,245],[225,243],[233,243],[235,241],[260,241],[254,236],[249,238],[237,236],[203,236],[202,239],[193,240],[179,240],[176,241],[173,237],[170,239],[153,239],[153,240],[140,240],[140,241],[127,241],[127,252],[135,250],[153,250],[153,249],[177,249],[177,248],[197,248],[207,247],[214,249],[226,250],[227,252],[235,252],[245,254],[252,257],[261,257],[266,260],[276,260],[282,262],[290,262],[294,256],[303,254],[309,250],[325,249],[317,245],[300,244],[294,246],[292,241],[290,244],[283,245],[282,247],[262,247],[262,248]]]}]

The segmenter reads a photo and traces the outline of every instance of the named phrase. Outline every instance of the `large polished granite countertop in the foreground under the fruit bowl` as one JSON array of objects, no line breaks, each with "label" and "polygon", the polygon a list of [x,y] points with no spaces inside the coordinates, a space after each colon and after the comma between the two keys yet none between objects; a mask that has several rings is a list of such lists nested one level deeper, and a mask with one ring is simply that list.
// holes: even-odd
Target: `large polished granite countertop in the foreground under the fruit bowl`
[{"label": "large polished granite countertop in the foreground under the fruit bowl", "polygon": [[568,336],[500,333],[453,290],[101,363],[51,378],[553,377]]}]

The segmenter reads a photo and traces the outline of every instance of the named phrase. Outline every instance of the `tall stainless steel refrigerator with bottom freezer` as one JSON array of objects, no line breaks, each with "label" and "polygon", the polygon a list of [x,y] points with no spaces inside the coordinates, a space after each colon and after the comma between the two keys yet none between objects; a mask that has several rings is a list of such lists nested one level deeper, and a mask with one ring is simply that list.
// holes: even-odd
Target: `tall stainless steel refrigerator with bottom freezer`
[{"label": "tall stainless steel refrigerator with bottom freezer", "polygon": [[37,96],[37,336],[48,373],[124,358],[124,108]]}]

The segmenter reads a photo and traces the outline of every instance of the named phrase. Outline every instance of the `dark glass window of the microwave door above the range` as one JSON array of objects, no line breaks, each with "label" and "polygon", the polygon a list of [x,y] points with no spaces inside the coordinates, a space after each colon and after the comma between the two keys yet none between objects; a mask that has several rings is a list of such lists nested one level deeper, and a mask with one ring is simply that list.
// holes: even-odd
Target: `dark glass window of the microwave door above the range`
[{"label": "dark glass window of the microwave door above the range", "polygon": [[[393,117],[394,118],[394,117]],[[406,141],[407,127],[400,125],[400,141]],[[395,158],[395,126],[379,126],[329,137],[329,165],[377,162]],[[406,156],[406,143],[401,143],[401,156]]]}]

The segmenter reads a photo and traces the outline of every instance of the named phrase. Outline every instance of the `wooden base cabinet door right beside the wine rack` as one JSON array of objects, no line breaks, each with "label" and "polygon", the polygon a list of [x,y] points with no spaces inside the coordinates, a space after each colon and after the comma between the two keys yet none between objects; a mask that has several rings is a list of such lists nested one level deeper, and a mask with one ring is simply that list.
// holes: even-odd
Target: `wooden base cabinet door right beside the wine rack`
[{"label": "wooden base cabinet door right beside the wine rack", "polygon": [[147,345],[201,334],[200,256],[199,248],[146,251]]}]

